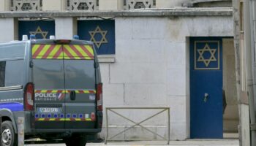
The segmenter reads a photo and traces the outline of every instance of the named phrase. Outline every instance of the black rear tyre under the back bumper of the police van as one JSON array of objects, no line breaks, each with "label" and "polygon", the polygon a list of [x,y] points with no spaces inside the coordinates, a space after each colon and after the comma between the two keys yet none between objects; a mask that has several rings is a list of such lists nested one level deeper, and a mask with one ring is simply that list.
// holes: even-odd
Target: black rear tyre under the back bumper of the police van
[{"label": "black rear tyre under the back bumper of the police van", "polygon": [[86,135],[72,135],[71,137],[65,138],[64,142],[67,146],[85,146]]}]

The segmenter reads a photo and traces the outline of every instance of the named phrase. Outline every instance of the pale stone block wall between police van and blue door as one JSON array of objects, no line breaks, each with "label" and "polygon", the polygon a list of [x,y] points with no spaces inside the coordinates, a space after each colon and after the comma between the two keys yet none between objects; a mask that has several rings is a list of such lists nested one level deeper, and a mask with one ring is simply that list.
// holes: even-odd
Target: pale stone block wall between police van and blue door
[{"label": "pale stone block wall between police van and blue door", "polygon": [[[104,106],[170,107],[170,139],[189,138],[188,37],[232,36],[232,17],[116,18],[116,62],[100,64]],[[142,111],[123,113],[147,117]],[[110,117],[110,135],[131,125],[124,121]],[[145,125],[167,137],[166,122],[163,114]],[[138,129],[132,129],[138,137],[127,131],[116,139],[158,139]]]}]

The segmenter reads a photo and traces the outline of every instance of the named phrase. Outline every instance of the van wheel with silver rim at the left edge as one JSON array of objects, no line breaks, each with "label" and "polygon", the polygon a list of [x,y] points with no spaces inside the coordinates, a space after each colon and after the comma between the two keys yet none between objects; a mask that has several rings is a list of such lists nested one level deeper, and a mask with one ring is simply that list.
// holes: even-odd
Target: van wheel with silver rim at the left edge
[{"label": "van wheel with silver rim at the left edge", "polygon": [[1,123],[1,145],[16,146],[17,142],[17,135],[14,132],[12,122],[6,120]]}]

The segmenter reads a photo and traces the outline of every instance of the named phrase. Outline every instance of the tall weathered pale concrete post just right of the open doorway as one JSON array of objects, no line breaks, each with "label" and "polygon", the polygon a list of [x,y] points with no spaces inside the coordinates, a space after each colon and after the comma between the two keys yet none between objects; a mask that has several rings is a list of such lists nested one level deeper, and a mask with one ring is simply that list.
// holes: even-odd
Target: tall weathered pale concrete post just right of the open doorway
[{"label": "tall weathered pale concrete post just right of the open doorway", "polygon": [[246,58],[244,51],[244,35],[240,34],[240,1],[233,0],[233,20],[234,20],[234,49],[236,57],[236,88],[238,96],[239,110],[239,144],[249,145],[249,106],[246,92]]}]

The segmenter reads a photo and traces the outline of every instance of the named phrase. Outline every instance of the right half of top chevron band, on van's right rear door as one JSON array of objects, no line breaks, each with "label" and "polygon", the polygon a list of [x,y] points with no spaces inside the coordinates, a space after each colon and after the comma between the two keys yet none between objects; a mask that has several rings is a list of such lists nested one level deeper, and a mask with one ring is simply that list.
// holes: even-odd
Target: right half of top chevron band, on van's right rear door
[{"label": "right half of top chevron band, on van's right rear door", "polygon": [[94,59],[91,45],[63,45],[64,59]]}]

